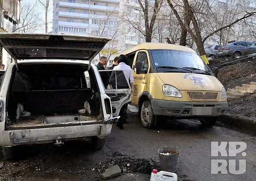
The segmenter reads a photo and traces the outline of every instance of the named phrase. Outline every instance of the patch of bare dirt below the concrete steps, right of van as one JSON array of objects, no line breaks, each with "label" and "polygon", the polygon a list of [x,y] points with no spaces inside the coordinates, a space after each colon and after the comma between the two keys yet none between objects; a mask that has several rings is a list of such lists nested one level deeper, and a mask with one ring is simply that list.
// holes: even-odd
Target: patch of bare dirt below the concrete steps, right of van
[{"label": "patch of bare dirt below the concrete steps, right of van", "polygon": [[256,94],[229,101],[227,113],[245,118],[256,118]]}]

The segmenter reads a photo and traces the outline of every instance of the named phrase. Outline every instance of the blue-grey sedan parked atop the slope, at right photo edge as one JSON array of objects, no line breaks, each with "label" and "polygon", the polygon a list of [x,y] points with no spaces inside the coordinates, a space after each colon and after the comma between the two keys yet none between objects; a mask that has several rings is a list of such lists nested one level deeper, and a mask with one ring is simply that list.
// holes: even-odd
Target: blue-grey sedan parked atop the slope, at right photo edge
[{"label": "blue-grey sedan parked atop the slope, at right photo edge", "polygon": [[230,41],[218,48],[218,57],[238,57],[256,53],[256,43],[250,41]]}]

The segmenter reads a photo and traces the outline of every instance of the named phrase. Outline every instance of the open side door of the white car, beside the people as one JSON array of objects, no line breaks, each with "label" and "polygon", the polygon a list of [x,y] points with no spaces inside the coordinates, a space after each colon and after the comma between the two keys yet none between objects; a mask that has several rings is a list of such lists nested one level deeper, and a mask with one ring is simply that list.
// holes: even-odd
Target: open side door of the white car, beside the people
[{"label": "open side door of the white car, beside the people", "polygon": [[131,101],[131,87],[122,70],[99,70],[106,94],[111,98],[113,116],[119,115],[121,107]]}]

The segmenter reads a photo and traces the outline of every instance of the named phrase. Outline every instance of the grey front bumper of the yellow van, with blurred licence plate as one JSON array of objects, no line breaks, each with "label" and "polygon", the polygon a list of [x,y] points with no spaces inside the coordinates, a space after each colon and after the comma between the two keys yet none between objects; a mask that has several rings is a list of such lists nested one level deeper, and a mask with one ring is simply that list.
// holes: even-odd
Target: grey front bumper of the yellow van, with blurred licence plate
[{"label": "grey front bumper of the yellow van, with blurred licence plate", "polygon": [[224,102],[188,102],[151,99],[154,115],[164,116],[219,116],[228,108]]}]

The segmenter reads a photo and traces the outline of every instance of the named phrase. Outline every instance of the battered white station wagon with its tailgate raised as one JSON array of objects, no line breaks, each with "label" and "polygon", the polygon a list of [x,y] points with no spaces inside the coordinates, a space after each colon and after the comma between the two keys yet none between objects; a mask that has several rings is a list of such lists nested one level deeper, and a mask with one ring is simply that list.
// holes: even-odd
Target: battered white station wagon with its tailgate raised
[{"label": "battered white station wagon with its tailgate raised", "polygon": [[92,140],[96,149],[104,145],[119,109],[131,101],[131,89],[105,90],[91,65],[108,41],[66,34],[0,34],[15,62],[0,81],[0,146],[6,158],[20,144]]}]

